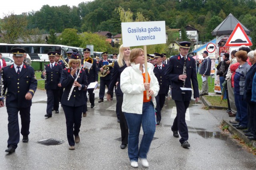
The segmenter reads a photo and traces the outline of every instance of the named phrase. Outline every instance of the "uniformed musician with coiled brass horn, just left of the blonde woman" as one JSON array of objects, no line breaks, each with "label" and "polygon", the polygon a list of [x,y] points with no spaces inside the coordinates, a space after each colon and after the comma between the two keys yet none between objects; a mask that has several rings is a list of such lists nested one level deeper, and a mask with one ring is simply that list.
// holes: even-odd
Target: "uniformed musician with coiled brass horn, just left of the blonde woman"
[{"label": "uniformed musician with coiled brass horn, just left of the blonde woman", "polygon": [[[112,63],[111,60],[108,60],[108,52],[102,53],[102,57],[103,57],[103,59],[100,60],[100,62],[98,64],[98,71],[101,71],[101,72],[104,71],[102,67],[105,64],[103,62]],[[111,72],[112,72],[112,67],[109,67],[109,70],[107,71],[107,75],[105,77],[100,77],[100,92],[99,92],[100,100],[98,101],[98,103],[103,102],[104,95],[105,95],[105,87],[106,86],[108,87],[110,84]],[[111,94],[111,100],[113,100],[113,92]]]}]

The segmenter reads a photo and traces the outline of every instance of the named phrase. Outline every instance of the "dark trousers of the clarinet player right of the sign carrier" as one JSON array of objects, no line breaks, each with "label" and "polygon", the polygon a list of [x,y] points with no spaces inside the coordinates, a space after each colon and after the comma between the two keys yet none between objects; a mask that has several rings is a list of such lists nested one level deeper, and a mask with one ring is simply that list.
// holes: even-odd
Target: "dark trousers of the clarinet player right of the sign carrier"
[{"label": "dark trousers of the clarinet player right of the sign carrier", "polygon": [[179,131],[180,143],[188,140],[188,127],[185,121],[185,113],[188,109],[190,101],[175,101],[177,108],[177,115],[172,124],[172,131]]}]

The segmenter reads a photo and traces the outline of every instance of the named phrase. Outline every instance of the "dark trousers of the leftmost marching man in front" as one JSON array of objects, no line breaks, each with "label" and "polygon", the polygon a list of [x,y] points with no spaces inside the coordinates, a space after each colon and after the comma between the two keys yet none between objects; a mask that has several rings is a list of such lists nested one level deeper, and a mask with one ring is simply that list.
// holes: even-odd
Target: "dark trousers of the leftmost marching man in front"
[{"label": "dark trousers of the leftmost marching man in front", "polygon": [[[21,130],[19,128],[18,112],[20,111]],[[8,113],[8,134],[7,147],[13,146],[17,148],[20,141],[20,132],[23,136],[29,134],[30,126],[30,107],[17,108],[7,107]]]}]

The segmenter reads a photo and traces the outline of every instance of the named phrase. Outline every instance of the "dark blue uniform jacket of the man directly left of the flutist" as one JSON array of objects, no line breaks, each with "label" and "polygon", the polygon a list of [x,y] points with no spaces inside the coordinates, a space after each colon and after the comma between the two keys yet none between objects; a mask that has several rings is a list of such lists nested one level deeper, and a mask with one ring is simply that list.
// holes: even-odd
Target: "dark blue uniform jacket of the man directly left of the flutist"
[{"label": "dark blue uniform jacket of the man directly left of the flutist", "polygon": [[[60,64],[54,63],[54,67],[51,69],[50,64],[47,64],[45,67],[46,70],[46,84],[44,88],[46,90],[56,90],[60,89],[58,83],[60,83],[60,77],[62,73],[62,66]],[[41,75],[42,79],[44,76]]]}]

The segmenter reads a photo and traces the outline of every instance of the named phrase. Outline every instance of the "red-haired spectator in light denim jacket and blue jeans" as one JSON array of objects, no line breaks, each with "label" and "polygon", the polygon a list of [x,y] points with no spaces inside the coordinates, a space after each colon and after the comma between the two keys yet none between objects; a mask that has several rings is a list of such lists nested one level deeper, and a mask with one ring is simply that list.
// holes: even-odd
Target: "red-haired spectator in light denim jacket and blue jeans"
[{"label": "red-haired spectator in light denim jacket and blue jeans", "polygon": [[237,129],[245,129],[247,128],[247,103],[243,100],[244,95],[244,84],[246,75],[250,69],[250,65],[246,61],[248,59],[247,52],[240,50],[236,52],[237,62],[240,64],[236,69],[236,73],[234,75],[234,95],[235,95],[235,103],[237,108],[237,114],[239,119],[238,124],[234,124],[233,126]]}]

